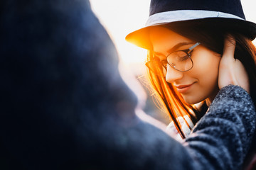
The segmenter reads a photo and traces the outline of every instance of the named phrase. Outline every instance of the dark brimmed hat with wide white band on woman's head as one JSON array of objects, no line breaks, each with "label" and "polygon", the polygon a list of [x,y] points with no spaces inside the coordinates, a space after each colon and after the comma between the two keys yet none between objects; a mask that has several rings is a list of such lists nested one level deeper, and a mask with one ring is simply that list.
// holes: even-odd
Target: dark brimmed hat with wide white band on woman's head
[{"label": "dark brimmed hat with wide white band on woman's head", "polygon": [[146,26],[125,38],[139,47],[149,49],[149,28],[184,21],[225,23],[230,29],[255,39],[256,24],[245,21],[240,0],[151,0]]}]

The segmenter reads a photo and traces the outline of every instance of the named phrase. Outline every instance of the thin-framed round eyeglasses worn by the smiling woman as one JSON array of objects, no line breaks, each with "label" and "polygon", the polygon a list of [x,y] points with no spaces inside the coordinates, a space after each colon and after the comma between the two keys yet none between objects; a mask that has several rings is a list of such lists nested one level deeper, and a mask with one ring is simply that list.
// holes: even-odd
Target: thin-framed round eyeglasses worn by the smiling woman
[{"label": "thin-framed round eyeglasses worn by the smiling woman", "polygon": [[154,74],[164,76],[167,73],[167,64],[179,72],[187,72],[193,68],[191,52],[193,52],[193,49],[198,45],[200,45],[200,42],[196,42],[196,44],[186,50],[171,52],[164,60],[161,61],[159,60],[159,57],[153,57],[149,62],[146,62],[146,67],[154,72]]}]

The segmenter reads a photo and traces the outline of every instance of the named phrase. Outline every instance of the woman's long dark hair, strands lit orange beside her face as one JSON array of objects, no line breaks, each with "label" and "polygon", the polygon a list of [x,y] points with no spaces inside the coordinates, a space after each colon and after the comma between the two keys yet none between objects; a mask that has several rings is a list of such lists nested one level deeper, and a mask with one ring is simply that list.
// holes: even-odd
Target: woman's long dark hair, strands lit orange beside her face
[{"label": "woman's long dark hair, strands lit orange beside her face", "polygon": [[[250,38],[240,33],[239,30],[232,28],[232,25],[220,23],[215,19],[183,21],[161,26],[169,28],[186,38],[201,42],[201,45],[220,55],[223,54],[224,39],[227,35],[232,35],[236,40],[235,59],[240,60],[245,66],[250,79],[250,96],[256,105],[256,48]],[[151,50],[149,50],[148,61],[151,60],[152,57],[150,51]],[[195,106],[189,105],[183,101],[181,95],[178,94],[174,87],[167,83],[163,77],[158,77],[149,70],[149,79],[156,94],[159,96],[159,100],[162,101],[163,106],[169,112],[171,120],[174,121],[174,125],[179,134],[181,137],[185,138],[184,132],[181,129],[181,123],[179,123],[177,117],[181,116],[185,120],[186,125],[188,125],[184,118],[184,115],[188,115],[192,123],[196,124],[201,118],[202,112],[198,111]],[[191,127],[188,125],[188,128]]]}]

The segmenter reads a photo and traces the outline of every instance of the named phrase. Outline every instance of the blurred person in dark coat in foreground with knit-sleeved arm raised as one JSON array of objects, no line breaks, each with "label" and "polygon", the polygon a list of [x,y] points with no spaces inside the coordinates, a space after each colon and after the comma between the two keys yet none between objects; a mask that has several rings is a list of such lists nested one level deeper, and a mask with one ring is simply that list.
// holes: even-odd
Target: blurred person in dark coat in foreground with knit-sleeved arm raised
[{"label": "blurred person in dark coat in foreground with knit-sleeved arm raised", "polygon": [[242,165],[255,130],[242,88],[220,90],[180,143],[135,115],[137,97],[89,1],[3,0],[0,8],[0,169]]}]

